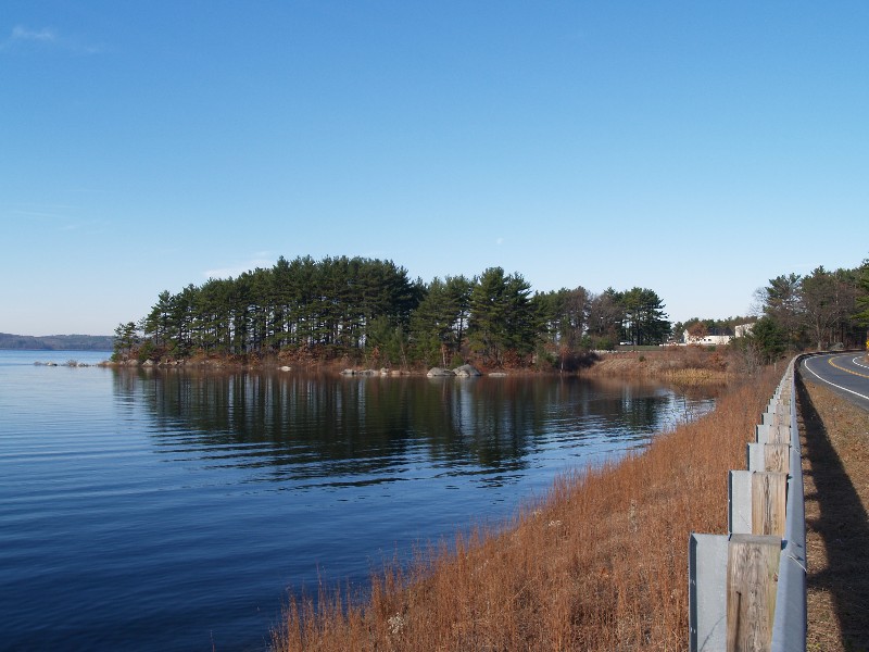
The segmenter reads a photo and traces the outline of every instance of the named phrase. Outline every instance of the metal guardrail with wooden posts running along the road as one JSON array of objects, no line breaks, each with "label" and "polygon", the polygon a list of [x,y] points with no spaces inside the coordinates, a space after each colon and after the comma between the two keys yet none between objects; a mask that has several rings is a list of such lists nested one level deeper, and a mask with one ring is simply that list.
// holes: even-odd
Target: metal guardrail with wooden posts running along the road
[{"label": "metal guardrail with wooden posts running along the road", "polygon": [[806,527],[794,359],[728,478],[728,535],[689,544],[692,652],[806,650]]}]

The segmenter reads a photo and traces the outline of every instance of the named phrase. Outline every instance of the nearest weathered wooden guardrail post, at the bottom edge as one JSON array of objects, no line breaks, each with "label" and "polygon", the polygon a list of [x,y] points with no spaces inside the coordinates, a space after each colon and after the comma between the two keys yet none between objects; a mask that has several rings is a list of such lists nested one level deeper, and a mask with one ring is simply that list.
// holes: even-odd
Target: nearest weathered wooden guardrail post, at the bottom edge
[{"label": "nearest weathered wooden guardrail post, at the bottom edge", "polygon": [[778,537],[730,537],[727,652],[767,652],[770,649],[780,553]]}]

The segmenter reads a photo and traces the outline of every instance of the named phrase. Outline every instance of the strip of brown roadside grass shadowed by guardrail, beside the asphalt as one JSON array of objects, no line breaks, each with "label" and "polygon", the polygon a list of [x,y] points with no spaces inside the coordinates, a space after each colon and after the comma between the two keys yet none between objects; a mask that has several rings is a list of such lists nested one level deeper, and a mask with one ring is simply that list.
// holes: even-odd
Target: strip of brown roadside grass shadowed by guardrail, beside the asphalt
[{"label": "strip of brown roadside grass shadowed by guardrail, beside the asphalt", "polygon": [[869,413],[827,387],[799,392],[808,652],[869,650]]}]

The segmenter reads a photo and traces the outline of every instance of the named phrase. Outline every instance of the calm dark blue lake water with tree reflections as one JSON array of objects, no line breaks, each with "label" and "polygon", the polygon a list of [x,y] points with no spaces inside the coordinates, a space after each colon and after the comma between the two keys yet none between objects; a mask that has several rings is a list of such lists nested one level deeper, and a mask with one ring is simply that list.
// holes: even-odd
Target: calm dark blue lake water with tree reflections
[{"label": "calm dark blue lake water with tree reflections", "polygon": [[262,650],[289,589],[500,523],[710,393],[0,351],[0,649]]}]

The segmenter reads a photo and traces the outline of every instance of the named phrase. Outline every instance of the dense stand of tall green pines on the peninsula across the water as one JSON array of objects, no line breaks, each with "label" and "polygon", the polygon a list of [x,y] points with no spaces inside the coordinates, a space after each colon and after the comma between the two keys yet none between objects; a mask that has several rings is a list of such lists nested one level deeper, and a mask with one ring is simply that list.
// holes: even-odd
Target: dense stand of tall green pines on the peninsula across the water
[{"label": "dense stand of tall green pines on the peninsula across the water", "polygon": [[568,368],[590,349],[656,344],[670,323],[657,293],[634,287],[532,292],[518,274],[411,279],[392,261],[278,259],[273,267],[158,296],[115,329],[115,358],[305,355],[376,365]]}]

